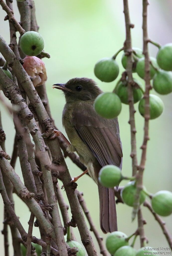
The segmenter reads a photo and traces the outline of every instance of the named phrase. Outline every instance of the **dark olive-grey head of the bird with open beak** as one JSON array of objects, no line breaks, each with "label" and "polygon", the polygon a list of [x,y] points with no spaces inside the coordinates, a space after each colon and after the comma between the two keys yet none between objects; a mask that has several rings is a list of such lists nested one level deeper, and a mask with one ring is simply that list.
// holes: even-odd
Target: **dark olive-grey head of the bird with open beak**
[{"label": "dark olive-grey head of the bird with open beak", "polygon": [[63,91],[66,102],[76,100],[91,100],[94,101],[96,97],[102,93],[96,82],[89,78],[73,78],[67,83],[57,83],[52,86]]}]

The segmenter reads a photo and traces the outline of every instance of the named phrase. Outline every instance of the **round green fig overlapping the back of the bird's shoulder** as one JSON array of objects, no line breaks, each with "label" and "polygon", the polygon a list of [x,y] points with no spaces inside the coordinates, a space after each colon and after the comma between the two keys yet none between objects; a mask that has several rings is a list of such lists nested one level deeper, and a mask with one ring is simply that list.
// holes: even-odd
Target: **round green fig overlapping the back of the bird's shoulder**
[{"label": "round green fig overlapping the back of the bird's shoulder", "polygon": [[100,116],[113,119],[121,112],[121,100],[113,92],[103,92],[96,98],[94,108]]}]

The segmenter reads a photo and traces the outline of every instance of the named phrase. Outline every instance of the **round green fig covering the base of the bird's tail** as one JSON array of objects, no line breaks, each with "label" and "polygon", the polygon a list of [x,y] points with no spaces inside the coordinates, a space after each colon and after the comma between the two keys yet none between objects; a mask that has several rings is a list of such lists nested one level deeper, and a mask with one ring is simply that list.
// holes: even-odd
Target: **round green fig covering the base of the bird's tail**
[{"label": "round green fig covering the base of the bird's tail", "polygon": [[121,179],[121,169],[115,165],[106,165],[99,172],[99,182],[107,188],[119,185]]}]

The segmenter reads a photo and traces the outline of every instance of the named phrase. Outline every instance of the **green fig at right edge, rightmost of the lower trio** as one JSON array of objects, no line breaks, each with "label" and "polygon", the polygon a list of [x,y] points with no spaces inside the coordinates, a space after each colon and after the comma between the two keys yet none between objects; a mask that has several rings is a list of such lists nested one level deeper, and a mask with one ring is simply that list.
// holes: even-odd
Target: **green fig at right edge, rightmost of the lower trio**
[{"label": "green fig at right edge, rightmost of the lower trio", "polygon": [[172,193],[170,191],[158,191],[152,197],[152,208],[160,216],[168,216],[172,213]]}]

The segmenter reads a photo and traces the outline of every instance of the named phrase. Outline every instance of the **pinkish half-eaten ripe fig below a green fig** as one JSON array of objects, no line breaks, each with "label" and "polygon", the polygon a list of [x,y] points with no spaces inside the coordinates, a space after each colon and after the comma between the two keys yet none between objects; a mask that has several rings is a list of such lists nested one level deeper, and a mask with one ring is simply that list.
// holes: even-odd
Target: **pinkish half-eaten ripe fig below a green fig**
[{"label": "pinkish half-eaten ripe fig below a green fig", "polygon": [[47,81],[47,73],[44,62],[35,56],[26,56],[23,68],[33,78],[33,86],[37,87]]}]

